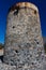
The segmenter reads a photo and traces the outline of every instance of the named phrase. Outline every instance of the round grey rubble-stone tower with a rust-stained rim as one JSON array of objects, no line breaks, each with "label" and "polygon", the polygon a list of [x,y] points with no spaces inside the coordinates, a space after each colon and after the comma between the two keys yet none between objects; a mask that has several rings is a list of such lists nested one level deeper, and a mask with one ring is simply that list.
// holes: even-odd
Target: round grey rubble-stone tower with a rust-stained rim
[{"label": "round grey rubble-stone tower with a rust-stained rim", "polygon": [[10,9],[3,61],[18,70],[41,70],[44,47],[37,8],[19,2]]}]

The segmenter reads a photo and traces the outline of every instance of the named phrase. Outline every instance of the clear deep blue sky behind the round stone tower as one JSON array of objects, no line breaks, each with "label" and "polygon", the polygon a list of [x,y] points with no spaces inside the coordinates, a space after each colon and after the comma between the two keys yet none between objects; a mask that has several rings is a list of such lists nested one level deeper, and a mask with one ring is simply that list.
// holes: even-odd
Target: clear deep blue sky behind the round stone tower
[{"label": "clear deep blue sky behind the round stone tower", "polygon": [[0,0],[0,43],[4,43],[6,16],[9,9],[17,2],[32,2],[40,11],[42,34],[46,37],[46,0]]}]

